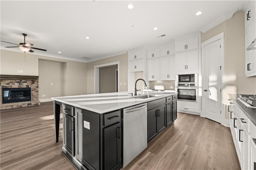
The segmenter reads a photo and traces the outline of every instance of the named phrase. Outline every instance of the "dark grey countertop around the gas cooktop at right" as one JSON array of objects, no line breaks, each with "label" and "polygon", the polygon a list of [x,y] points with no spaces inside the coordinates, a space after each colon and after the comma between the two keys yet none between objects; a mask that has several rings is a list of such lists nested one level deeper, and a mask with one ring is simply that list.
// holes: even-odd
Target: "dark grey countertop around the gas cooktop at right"
[{"label": "dark grey countertop around the gas cooktop at right", "polygon": [[246,107],[237,98],[240,94],[228,94],[234,103],[244,112],[244,114],[250,119],[250,121],[256,126],[256,108]]}]

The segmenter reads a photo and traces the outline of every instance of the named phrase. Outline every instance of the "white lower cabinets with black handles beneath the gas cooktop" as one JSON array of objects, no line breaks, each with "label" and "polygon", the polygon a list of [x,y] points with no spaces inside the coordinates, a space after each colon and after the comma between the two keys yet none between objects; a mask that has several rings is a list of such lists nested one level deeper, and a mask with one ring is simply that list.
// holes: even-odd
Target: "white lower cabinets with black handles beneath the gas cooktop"
[{"label": "white lower cabinets with black handles beneath the gas cooktop", "polygon": [[[232,100],[230,103],[230,109],[228,109],[230,131],[240,167],[242,170],[254,170],[256,169],[256,144],[253,138],[256,136],[250,134],[256,131],[256,127]],[[249,126],[250,128],[248,128]]]}]

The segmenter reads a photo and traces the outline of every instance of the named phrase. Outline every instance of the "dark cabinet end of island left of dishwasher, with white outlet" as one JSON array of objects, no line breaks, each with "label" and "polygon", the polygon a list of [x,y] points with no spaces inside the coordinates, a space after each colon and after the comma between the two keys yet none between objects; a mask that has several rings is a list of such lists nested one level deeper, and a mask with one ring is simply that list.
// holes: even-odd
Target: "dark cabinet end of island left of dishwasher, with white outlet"
[{"label": "dark cabinet end of island left of dishwasher, with white outlet", "polygon": [[121,110],[98,114],[77,107],[62,106],[62,154],[78,170],[121,169]]}]

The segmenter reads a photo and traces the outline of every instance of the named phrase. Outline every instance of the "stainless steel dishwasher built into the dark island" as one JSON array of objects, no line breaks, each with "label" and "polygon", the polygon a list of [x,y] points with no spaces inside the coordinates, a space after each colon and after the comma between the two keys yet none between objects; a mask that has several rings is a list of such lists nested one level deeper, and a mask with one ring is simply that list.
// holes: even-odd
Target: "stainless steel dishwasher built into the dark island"
[{"label": "stainless steel dishwasher built into the dark island", "polygon": [[124,109],[124,167],[147,146],[147,103]]}]

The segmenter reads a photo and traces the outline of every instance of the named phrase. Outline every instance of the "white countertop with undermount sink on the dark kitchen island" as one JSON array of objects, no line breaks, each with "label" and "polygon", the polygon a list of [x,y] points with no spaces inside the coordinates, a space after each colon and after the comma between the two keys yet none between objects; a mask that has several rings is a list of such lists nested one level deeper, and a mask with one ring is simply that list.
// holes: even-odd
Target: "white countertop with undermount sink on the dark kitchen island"
[{"label": "white countertop with undermount sink on the dark kitchen island", "polygon": [[155,97],[139,99],[132,98],[131,95],[128,93],[134,93],[134,91],[52,97],[52,100],[93,111],[96,113],[107,113],[117,109],[122,109],[177,94],[173,92],[158,91],[137,92],[138,95],[155,95]]}]

